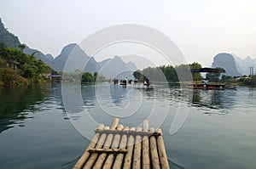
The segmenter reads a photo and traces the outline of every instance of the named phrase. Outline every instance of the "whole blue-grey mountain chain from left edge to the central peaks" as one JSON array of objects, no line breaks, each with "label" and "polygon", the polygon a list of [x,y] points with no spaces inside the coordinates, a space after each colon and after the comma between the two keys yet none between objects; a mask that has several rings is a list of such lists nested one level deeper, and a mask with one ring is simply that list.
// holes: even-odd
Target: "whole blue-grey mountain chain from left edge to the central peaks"
[{"label": "whole blue-grey mountain chain from left edge to the central peaks", "polygon": [[[0,18],[0,43],[3,42],[8,48],[19,48],[20,40],[14,34],[10,33],[3,25]],[[53,69],[57,71],[63,71],[66,65],[67,59],[70,57],[69,61],[72,61],[70,65],[67,66],[67,71],[77,70],[78,68],[84,69],[90,73],[98,72],[102,70],[103,76],[108,76],[113,78],[117,74],[127,71],[127,70],[137,70],[136,65],[133,63],[125,64],[123,59],[118,55],[114,56],[113,59],[105,59],[102,62],[97,63],[93,57],[88,56],[79,44],[76,42],[67,44],[61,49],[61,54],[57,57],[53,57],[51,54],[43,54],[37,49],[32,49],[26,46],[24,49],[25,54],[34,54],[37,59],[41,59],[44,63],[50,65]],[[84,65],[86,63],[86,65]],[[85,66],[85,68],[84,68]],[[103,68],[105,67],[105,68]],[[132,72],[126,73],[132,76]]]}]

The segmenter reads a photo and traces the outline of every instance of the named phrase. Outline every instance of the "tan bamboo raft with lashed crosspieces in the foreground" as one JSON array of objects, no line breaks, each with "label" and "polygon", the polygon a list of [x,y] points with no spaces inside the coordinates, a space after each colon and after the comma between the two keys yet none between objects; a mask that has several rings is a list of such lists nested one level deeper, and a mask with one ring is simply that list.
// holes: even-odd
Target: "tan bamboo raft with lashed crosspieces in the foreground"
[{"label": "tan bamboo raft with lashed crosspieces in the foreground", "polygon": [[169,168],[161,129],[124,127],[114,118],[111,127],[103,124],[73,169],[81,168]]}]

